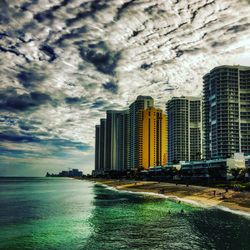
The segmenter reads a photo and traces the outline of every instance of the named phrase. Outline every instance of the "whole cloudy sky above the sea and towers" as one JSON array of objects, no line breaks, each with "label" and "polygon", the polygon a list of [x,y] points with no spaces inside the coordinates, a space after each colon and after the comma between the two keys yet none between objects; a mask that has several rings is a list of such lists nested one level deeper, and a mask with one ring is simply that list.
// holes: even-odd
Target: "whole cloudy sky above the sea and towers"
[{"label": "whole cloudy sky above the sea and towers", "polygon": [[250,66],[249,0],[1,0],[0,176],[91,173],[94,130],[138,95],[201,95]]}]

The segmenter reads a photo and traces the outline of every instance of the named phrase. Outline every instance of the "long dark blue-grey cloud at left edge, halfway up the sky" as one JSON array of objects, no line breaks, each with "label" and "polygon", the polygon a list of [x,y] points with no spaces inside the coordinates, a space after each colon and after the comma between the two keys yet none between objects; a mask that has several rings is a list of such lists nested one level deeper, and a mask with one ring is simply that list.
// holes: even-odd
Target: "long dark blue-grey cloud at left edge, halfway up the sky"
[{"label": "long dark blue-grey cloud at left edge, halfway up the sky", "polygon": [[38,91],[29,94],[18,94],[15,89],[0,91],[0,109],[25,111],[42,104],[52,102],[49,95]]}]

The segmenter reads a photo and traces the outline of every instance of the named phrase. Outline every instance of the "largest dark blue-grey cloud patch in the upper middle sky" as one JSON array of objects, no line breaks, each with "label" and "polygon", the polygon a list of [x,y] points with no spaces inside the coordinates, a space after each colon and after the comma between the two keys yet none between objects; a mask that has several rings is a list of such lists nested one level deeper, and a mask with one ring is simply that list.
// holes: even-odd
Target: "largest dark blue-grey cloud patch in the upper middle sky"
[{"label": "largest dark blue-grey cloud patch in the upper middle sky", "polygon": [[96,69],[104,74],[114,74],[120,59],[120,52],[111,51],[105,42],[89,44],[87,47],[79,46],[80,56],[92,63]]}]

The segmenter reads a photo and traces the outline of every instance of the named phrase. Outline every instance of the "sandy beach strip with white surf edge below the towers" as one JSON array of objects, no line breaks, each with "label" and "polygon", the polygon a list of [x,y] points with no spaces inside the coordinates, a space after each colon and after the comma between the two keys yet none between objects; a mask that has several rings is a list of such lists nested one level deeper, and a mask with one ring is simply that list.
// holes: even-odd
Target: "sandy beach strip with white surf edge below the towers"
[{"label": "sandy beach strip with white surf edge below the towers", "polygon": [[[112,187],[117,191],[128,191],[157,195],[172,201],[204,207],[218,208],[231,213],[250,217],[250,192],[236,192],[221,188],[172,184],[154,181],[91,179],[96,184]],[[214,195],[215,191],[215,195]]]}]

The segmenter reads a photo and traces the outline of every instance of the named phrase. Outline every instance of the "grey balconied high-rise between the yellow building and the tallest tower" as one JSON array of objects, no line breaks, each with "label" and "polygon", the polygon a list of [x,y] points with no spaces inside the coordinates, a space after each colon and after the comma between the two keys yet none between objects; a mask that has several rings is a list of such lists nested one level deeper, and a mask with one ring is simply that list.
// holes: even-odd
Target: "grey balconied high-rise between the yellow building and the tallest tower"
[{"label": "grey balconied high-rise between the yellow building and the tallest tower", "polygon": [[173,97],[166,104],[168,161],[200,160],[202,157],[202,99]]}]

